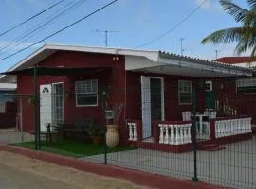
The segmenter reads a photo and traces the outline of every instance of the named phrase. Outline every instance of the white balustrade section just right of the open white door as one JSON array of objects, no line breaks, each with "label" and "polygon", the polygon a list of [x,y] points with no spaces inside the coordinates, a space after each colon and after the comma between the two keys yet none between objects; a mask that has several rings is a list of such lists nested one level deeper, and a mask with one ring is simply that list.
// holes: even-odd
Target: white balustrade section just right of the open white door
[{"label": "white balustrade section just right of the open white door", "polygon": [[192,142],[192,124],[158,124],[158,127],[160,144],[182,145]]}]

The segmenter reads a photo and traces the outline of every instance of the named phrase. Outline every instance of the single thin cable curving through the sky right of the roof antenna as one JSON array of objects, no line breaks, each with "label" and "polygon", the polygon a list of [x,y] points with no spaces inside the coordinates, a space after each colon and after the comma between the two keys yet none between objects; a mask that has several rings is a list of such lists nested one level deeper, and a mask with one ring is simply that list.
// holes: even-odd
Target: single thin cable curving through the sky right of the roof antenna
[{"label": "single thin cable curving through the sky right of the roof antenna", "polygon": [[135,47],[134,49],[137,49],[137,48],[140,48],[140,47],[143,47],[143,46],[146,46],[148,44],[151,44],[151,43],[155,43],[155,41],[165,37],[167,34],[171,33],[172,31],[174,31],[174,29],[178,26],[180,26],[181,24],[183,24],[185,21],[187,21],[191,16],[192,14],[194,14],[198,9],[200,9],[205,3],[206,3],[207,0],[204,0],[201,4],[199,4],[195,9],[192,10],[192,12],[190,14],[188,14],[186,17],[184,17],[181,21],[179,21],[176,25],[174,25],[173,27],[171,27],[170,29],[168,29],[166,32],[164,32],[163,34],[161,34],[160,36],[156,37],[155,39],[149,41],[148,43],[143,43],[143,44],[140,44],[140,45],[137,45],[137,47]]}]

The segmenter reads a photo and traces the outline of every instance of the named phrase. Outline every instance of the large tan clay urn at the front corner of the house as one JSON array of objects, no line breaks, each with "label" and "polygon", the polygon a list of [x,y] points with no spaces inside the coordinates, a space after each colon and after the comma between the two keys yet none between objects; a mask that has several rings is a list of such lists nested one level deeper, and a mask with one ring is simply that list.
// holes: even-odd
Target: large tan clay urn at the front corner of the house
[{"label": "large tan clay urn at the front corner of the house", "polygon": [[106,126],[106,145],[109,148],[113,148],[119,145],[119,132],[118,125],[107,125]]}]

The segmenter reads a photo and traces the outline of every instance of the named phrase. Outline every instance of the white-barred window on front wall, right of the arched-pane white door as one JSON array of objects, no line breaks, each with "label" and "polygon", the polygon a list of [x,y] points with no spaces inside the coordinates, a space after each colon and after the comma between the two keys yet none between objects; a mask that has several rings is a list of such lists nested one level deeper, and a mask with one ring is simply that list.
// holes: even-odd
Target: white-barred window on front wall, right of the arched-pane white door
[{"label": "white-barred window on front wall, right of the arched-pane white door", "polygon": [[82,80],[76,82],[77,106],[97,106],[98,80]]}]

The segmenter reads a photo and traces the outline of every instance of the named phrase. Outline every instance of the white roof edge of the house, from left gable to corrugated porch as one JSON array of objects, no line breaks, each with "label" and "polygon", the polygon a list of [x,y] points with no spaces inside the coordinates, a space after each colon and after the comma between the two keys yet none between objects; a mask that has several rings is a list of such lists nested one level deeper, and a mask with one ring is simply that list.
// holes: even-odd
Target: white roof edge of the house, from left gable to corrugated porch
[{"label": "white roof edge of the house, from left gable to corrugated porch", "polygon": [[[239,72],[238,76],[246,75],[251,76],[251,71],[246,68],[233,66],[230,64],[224,64],[217,61],[195,59],[192,57],[175,55],[172,53],[160,52],[157,50],[137,50],[137,49],[124,49],[124,48],[109,48],[109,47],[89,47],[89,46],[76,46],[76,45],[61,45],[61,44],[45,44],[24,60],[21,60],[8,71],[19,70],[22,68],[31,67],[34,64],[46,59],[46,57],[55,53],[56,51],[76,51],[76,52],[90,52],[90,53],[101,53],[101,54],[113,54],[113,55],[124,55],[126,57],[142,57],[147,60],[151,60],[155,66],[159,66],[159,63],[170,64],[174,61],[182,61],[189,64],[198,64],[201,67],[210,66],[221,68],[222,70],[232,70]],[[233,74],[234,75],[234,74]],[[0,82],[15,82],[14,76],[0,76]]]}]

